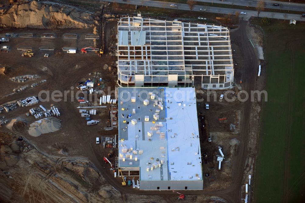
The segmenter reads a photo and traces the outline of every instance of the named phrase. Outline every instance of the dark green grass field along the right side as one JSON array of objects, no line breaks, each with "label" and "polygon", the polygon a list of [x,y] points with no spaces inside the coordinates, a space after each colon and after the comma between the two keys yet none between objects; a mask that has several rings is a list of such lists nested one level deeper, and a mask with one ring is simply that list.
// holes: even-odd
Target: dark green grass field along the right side
[{"label": "dark green grass field along the right side", "polygon": [[287,24],[264,27],[268,101],[263,104],[254,202],[305,202],[305,23]]}]

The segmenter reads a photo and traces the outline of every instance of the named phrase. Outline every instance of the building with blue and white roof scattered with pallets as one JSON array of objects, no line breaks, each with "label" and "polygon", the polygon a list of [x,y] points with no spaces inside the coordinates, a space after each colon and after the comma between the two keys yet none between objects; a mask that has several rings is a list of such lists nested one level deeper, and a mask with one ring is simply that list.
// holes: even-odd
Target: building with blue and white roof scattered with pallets
[{"label": "building with blue and white roof scattered with pallets", "polygon": [[119,87],[118,167],[141,190],[202,190],[195,88]]}]

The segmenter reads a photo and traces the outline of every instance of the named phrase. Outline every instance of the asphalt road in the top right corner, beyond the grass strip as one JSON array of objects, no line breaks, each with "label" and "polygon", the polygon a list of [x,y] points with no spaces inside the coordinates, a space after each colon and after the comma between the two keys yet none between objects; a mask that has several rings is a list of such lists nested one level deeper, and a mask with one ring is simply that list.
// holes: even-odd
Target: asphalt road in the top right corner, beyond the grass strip
[{"label": "asphalt road in the top right corner, beyond the grass strip", "polygon": [[[241,6],[250,6],[256,7],[258,0],[197,0],[197,2],[209,2],[209,3],[217,3],[217,4],[229,4],[229,5],[241,5]],[[272,4],[278,3],[279,6],[273,6]],[[279,10],[287,10],[287,11],[303,11],[305,13],[305,4],[299,3],[290,3],[289,2],[277,2],[265,0],[265,8],[267,9],[279,9]]]}]

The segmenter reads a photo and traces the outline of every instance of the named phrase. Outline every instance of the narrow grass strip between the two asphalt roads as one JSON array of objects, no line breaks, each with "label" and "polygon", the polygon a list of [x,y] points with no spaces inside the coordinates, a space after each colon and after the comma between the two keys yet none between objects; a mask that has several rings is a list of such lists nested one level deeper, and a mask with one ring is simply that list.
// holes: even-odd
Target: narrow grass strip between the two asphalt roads
[{"label": "narrow grass strip between the two asphalt roads", "polygon": [[[160,2],[169,2],[168,0],[152,0],[152,1],[160,1]],[[186,0],[170,0],[173,3],[181,3],[186,4]],[[215,1],[216,2],[216,1]],[[255,5],[252,6],[241,6],[241,5],[232,5],[232,4],[218,4],[218,3],[209,3],[209,2],[197,2],[196,5],[202,5],[203,7],[220,7],[220,8],[228,8],[228,9],[235,9],[236,11],[243,11],[243,10],[252,10],[256,11]],[[168,5],[163,5],[168,7]],[[275,13],[288,13],[288,10],[282,9],[267,9],[265,8],[265,12],[275,12]],[[302,11],[289,11],[292,14],[302,14]]]}]

